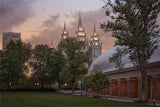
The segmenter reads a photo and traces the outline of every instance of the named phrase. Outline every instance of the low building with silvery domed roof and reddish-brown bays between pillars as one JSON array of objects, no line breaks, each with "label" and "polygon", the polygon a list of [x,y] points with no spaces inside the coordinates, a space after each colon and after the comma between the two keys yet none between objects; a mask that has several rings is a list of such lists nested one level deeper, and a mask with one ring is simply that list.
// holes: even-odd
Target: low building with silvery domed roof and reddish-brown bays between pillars
[{"label": "low building with silvery domed roof and reddish-brown bays between pillars", "polygon": [[[147,72],[147,90],[148,99],[160,100],[160,43],[148,60]],[[103,71],[110,80],[110,85],[101,90],[102,95],[116,96],[125,98],[140,98],[142,92],[142,78],[140,70],[129,60],[129,54],[122,57],[123,69],[119,71],[114,63],[109,62],[109,58],[116,52],[116,47],[112,47],[100,55],[91,65],[89,72],[99,70]],[[95,93],[91,89],[88,94]]]}]

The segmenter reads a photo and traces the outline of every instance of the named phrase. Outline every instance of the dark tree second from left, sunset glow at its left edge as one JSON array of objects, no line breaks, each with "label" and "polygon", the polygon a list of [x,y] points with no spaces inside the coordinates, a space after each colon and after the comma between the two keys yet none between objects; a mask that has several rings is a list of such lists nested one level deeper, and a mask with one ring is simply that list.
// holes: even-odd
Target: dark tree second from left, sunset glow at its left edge
[{"label": "dark tree second from left, sunset glow at its left edge", "polygon": [[50,73],[48,61],[53,55],[53,49],[50,49],[48,45],[36,45],[33,49],[31,66],[33,67],[35,82],[40,83],[41,88],[44,88],[44,84],[49,83]]}]

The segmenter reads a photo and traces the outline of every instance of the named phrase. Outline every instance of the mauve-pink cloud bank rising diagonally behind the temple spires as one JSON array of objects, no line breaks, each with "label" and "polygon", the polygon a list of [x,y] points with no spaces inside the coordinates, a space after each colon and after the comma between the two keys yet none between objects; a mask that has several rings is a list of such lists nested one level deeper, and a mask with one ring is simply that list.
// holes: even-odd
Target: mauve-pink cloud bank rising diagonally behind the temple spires
[{"label": "mauve-pink cloud bank rising diagonally behind the temple spires", "polygon": [[[100,23],[104,23],[107,21],[107,17],[105,16],[104,9],[98,9],[95,11],[86,11],[82,12],[82,23],[87,33],[87,37],[90,38],[93,34],[93,24],[97,26],[97,32],[100,36],[100,39],[103,43],[103,51],[109,49],[114,45],[114,39],[111,37],[110,33],[104,33],[102,29],[100,29]],[[67,23],[67,30],[69,32],[69,36],[74,36],[75,31],[78,25],[78,16],[79,12],[71,12],[70,14],[65,15],[65,18],[72,18],[73,21]],[[59,41],[61,40],[63,26],[60,25],[61,17],[59,14],[54,14],[50,16],[50,18],[43,22],[40,28],[42,29],[38,35],[33,35],[31,39],[27,40],[32,44],[47,44],[50,46],[51,41],[53,39],[54,46],[57,46]]]}]

